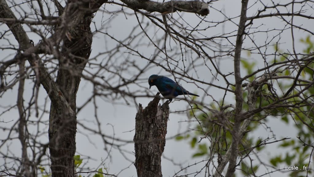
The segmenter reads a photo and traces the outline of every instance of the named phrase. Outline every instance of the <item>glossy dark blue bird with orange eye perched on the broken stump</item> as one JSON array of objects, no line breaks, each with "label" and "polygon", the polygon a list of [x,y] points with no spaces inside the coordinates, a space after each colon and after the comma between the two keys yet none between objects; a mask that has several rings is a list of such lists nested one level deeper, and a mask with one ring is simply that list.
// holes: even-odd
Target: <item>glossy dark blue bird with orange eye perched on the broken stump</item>
[{"label": "glossy dark blue bird with orange eye perched on the broken stump", "polygon": [[191,93],[185,90],[180,84],[177,84],[175,81],[170,79],[169,77],[162,75],[151,75],[148,78],[149,89],[152,86],[156,86],[161,95],[171,102],[172,98],[177,97],[178,95],[198,95]]}]

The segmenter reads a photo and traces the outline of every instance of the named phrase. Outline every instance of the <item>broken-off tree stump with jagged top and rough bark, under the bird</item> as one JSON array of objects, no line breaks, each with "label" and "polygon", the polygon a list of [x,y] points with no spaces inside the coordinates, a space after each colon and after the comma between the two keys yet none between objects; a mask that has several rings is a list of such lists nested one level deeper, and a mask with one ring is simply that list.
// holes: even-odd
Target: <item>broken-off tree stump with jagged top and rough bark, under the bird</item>
[{"label": "broken-off tree stump with jagged top and rough bark, under the bird", "polygon": [[155,97],[143,109],[139,104],[135,121],[135,167],[138,177],[162,177],[161,155],[165,148],[169,105],[158,105],[160,97]]}]

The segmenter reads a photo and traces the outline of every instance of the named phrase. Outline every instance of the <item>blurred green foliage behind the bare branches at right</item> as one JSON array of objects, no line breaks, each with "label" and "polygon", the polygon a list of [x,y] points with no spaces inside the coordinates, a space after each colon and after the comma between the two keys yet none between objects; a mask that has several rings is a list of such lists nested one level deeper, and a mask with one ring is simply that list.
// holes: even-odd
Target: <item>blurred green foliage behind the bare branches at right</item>
[{"label": "blurred green foliage behind the bare branches at right", "polygon": [[[306,49],[304,52],[310,54],[314,51],[314,41],[310,40],[310,36],[307,36],[305,39],[301,39],[300,41],[306,44]],[[274,46],[274,49],[278,53],[282,52],[277,45]],[[274,59],[274,62],[285,61],[287,59],[287,55],[280,55],[279,58]],[[248,75],[253,73],[253,67],[256,63],[250,63],[249,60],[242,59],[241,60],[242,67],[246,70]],[[313,68],[314,63],[308,62],[308,65],[304,67],[301,71],[299,78],[303,80],[313,80]],[[291,71],[291,69],[285,69],[277,72],[277,76],[295,76],[297,73],[295,71]],[[287,77],[288,78],[288,77]],[[249,82],[252,82],[255,79],[255,76],[251,76],[248,78]],[[293,84],[291,82],[286,82],[285,80],[277,80],[277,86],[268,84],[263,84],[260,87],[260,94],[257,97],[257,105],[256,107],[266,107],[269,104],[272,104],[276,101],[278,95],[276,95],[276,88],[281,88],[284,90],[288,90],[292,87]],[[302,84],[302,81],[299,82]],[[234,89],[234,87],[232,87]],[[291,91],[291,94],[297,93],[297,88]],[[247,100],[247,92],[243,93],[244,100]],[[314,87],[308,88],[303,96],[313,97],[314,95]],[[310,99],[313,101],[313,99]],[[313,120],[311,118],[314,117],[313,107],[311,104],[302,104],[302,99],[299,97],[292,97],[288,99],[287,102],[290,105],[298,105],[294,107],[277,107],[271,110],[262,110],[255,114],[253,117],[253,121],[250,123],[247,128],[248,131],[254,131],[261,124],[266,124],[268,119],[271,117],[280,118],[282,122],[287,124],[287,126],[293,126],[295,130],[297,130],[297,137],[291,137],[289,139],[285,139],[283,137],[282,141],[275,141],[278,144],[278,148],[282,149],[282,154],[276,155],[275,157],[269,157],[269,164],[273,167],[280,168],[284,166],[287,168],[288,166],[298,166],[299,168],[306,166],[308,169],[308,161],[310,158],[313,158],[313,143],[314,143],[314,125]],[[217,108],[217,104],[212,103],[211,107],[207,110],[209,111],[200,111],[198,105],[194,104],[193,107],[195,109],[191,110],[189,115],[190,118],[196,118],[198,121],[198,125],[195,127],[194,134],[189,134],[186,138],[183,136],[177,138],[176,140],[184,140],[189,139],[189,144],[192,149],[195,149],[195,153],[192,157],[201,157],[201,156],[210,156],[211,154],[216,154],[219,158],[224,156],[225,152],[230,148],[230,143],[232,141],[232,126],[228,126],[222,123],[223,119],[227,117],[231,117],[229,119],[229,124],[233,124],[232,113],[233,109],[231,107],[224,108],[227,103],[220,102],[219,108]],[[243,105],[243,110],[248,110],[248,105]],[[219,112],[215,112],[214,110],[219,110]],[[196,116],[195,116],[196,115]],[[231,116],[230,116],[231,115]],[[189,138],[190,137],[190,138]],[[207,139],[209,141],[203,141],[203,139]],[[262,150],[266,150],[265,146],[269,143],[269,140],[272,138],[266,139],[258,139],[254,140],[254,138],[249,137],[245,134],[239,144],[240,156],[246,157],[248,154],[254,149],[255,153],[261,152]],[[208,144],[210,142],[210,144]],[[271,143],[271,142],[270,142]],[[244,175],[255,174],[259,167],[257,165],[248,165],[247,160],[242,160],[240,163],[241,172]],[[304,174],[311,174],[311,170],[294,170],[290,172],[290,176],[303,176]]]}]

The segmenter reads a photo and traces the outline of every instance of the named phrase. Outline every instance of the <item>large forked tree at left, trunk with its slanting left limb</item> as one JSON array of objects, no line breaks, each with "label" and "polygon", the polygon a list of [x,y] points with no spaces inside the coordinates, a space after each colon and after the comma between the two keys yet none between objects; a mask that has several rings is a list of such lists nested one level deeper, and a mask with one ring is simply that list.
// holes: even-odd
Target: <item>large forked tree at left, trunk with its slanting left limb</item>
[{"label": "large forked tree at left, trunk with its slanting left limb", "polygon": [[[93,7],[99,8],[100,5],[94,4]],[[18,53],[14,59],[18,61],[21,58],[27,58],[37,79],[51,100],[49,148],[52,177],[74,176],[76,92],[80,75],[89,58],[92,42],[89,28],[91,14],[89,11],[82,13],[78,7],[87,8],[89,3],[68,3],[60,16],[62,20],[55,33],[51,38],[46,39],[45,43],[42,42],[36,46],[30,43],[29,37],[18,21],[6,23],[19,42],[20,49],[24,51],[22,54]],[[0,18],[16,19],[4,0],[0,1]],[[71,19],[70,23],[65,23],[69,19]],[[63,40],[64,45],[62,46],[62,55],[58,56],[58,52],[50,47],[58,45],[61,40]],[[53,53],[58,57],[59,70],[56,82],[53,81],[41,59],[39,59],[38,53],[42,52]],[[29,174],[29,172],[27,173]]]}]

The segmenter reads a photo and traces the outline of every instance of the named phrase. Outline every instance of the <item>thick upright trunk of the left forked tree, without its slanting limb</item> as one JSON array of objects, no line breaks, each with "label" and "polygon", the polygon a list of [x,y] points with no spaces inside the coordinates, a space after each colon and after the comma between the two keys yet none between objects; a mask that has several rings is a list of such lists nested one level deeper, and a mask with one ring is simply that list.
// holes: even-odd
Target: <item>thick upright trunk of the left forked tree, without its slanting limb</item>
[{"label": "thick upright trunk of the left forked tree, without its slanting limb", "polygon": [[49,140],[52,177],[73,177],[76,135],[76,93],[82,71],[88,61],[92,34],[91,16],[86,16],[74,29],[69,30],[63,39],[62,56],[59,58],[59,70],[56,84],[72,108],[69,114],[66,107],[51,102],[49,116]]}]

